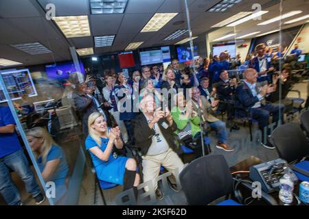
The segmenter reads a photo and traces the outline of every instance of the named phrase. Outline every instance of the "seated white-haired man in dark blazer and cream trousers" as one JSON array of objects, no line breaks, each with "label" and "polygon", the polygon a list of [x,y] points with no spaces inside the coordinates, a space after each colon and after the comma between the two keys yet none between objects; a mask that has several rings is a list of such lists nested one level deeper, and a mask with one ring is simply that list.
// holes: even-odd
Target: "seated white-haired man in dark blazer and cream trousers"
[{"label": "seated white-haired man in dark blazer and cream trousers", "polygon": [[[183,170],[183,162],[174,152],[174,137],[172,133],[176,131],[176,124],[166,109],[155,109],[155,99],[152,95],[143,96],[139,101],[141,114],[137,115],[132,121],[133,132],[136,139],[136,145],[141,149],[143,158],[144,182],[153,181],[157,198],[162,199],[163,194],[155,181],[159,176],[160,168],[163,166],[166,170],[177,177]],[[176,181],[170,179],[171,188],[176,190]],[[145,188],[148,191],[148,188]]]}]

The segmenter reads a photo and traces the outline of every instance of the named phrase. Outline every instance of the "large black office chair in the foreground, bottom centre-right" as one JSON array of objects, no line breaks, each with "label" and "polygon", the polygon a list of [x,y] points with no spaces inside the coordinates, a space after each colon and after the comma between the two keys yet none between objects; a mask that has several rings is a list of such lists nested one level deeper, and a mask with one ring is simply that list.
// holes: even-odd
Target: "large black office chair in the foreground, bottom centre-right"
[{"label": "large black office chair in the foreground, bottom centre-right", "polygon": [[[188,205],[208,205],[222,196],[226,196],[226,200],[218,205],[241,205],[241,195],[236,195],[238,202],[227,199],[227,196],[233,193],[233,177],[223,155],[207,155],[194,160],[181,171],[179,180]],[[245,182],[241,184],[244,188],[253,190],[251,184]],[[262,198],[267,203],[277,204],[264,192]]]}]

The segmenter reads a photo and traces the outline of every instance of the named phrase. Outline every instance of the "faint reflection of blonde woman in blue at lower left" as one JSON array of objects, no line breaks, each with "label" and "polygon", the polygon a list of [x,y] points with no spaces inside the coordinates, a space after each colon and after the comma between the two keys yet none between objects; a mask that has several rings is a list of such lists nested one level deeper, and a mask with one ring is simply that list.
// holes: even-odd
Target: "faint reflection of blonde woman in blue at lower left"
[{"label": "faint reflection of blonde woman in blue at lower left", "polygon": [[32,151],[36,155],[36,162],[44,181],[52,181],[56,185],[56,196],[52,200],[57,203],[67,192],[66,178],[69,167],[65,153],[43,127],[30,129],[26,136]]}]

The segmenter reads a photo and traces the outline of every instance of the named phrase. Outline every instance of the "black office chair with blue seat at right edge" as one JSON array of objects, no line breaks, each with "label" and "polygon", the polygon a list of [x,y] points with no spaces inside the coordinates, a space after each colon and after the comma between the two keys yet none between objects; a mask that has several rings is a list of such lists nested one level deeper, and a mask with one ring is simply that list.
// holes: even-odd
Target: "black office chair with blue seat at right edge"
[{"label": "black office chair with blue seat at right edge", "polygon": [[279,157],[291,165],[299,180],[308,181],[309,161],[305,159],[309,158],[309,145],[301,127],[296,123],[279,126],[273,131],[272,138]]}]

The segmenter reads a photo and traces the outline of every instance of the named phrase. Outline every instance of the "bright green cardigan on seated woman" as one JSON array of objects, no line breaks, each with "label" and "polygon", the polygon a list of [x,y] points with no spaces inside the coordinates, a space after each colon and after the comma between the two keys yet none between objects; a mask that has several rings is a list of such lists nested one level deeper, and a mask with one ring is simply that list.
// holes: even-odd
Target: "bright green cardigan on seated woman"
[{"label": "bright green cardigan on seated woman", "polygon": [[192,130],[192,136],[195,136],[196,133],[198,133],[198,131],[201,131],[200,129],[200,118],[198,116],[195,116],[193,118],[189,118],[189,119],[180,119],[179,116],[181,115],[179,107],[173,107],[172,111],[172,118],[174,120],[174,122],[177,125],[177,131],[175,131],[175,133],[178,133],[179,131],[183,130],[186,126],[187,123],[191,123],[191,130]]}]

